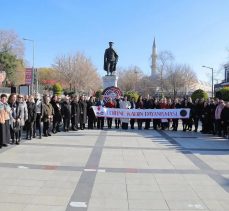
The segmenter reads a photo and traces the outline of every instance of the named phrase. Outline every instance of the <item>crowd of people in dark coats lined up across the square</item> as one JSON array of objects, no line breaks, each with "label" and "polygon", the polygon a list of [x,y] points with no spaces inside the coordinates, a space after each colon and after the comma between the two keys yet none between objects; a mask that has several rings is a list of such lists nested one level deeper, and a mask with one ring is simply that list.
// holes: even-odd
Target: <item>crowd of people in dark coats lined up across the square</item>
[{"label": "crowd of people in dark coats lined up across the square", "polygon": [[[139,96],[128,99],[127,96],[117,99],[108,98],[104,100],[103,96],[99,99],[86,96],[50,96],[44,95],[42,99],[39,95],[23,96],[11,94],[1,95],[0,100],[0,147],[6,147],[8,144],[20,144],[23,138],[31,140],[32,138],[42,138],[51,136],[61,130],[68,132],[70,130],[104,129],[105,121],[107,128],[111,129],[112,124],[115,128],[124,130],[144,129],[154,130],[172,129],[177,131],[179,119],[113,119],[96,117],[92,106],[102,106],[108,108],[124,109],[175,109],[190,108],[188,119],[182,119],[183,131],[199,131],[199,124],[202,123],[202,133],[213,134],[217,136],[228,136],[229,128],[229,102],[225,103],[221,99],[196,99],[192,102],[191,97],[174,100],[162,98],[147,99]],[[144,123],[144,124],[143,124]],[[24,131],[24,132],[23,132]],[[25,134],[25,136],[23,135]]]}]

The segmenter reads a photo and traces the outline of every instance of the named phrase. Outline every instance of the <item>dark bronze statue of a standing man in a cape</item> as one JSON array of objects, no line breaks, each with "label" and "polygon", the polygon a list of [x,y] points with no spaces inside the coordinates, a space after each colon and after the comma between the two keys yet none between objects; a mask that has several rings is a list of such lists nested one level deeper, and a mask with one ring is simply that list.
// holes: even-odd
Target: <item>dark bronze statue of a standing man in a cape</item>
[{"label": "dark bronze statue of a standing man in a cape", "polygon": [[118,54],[112,48],[113,42],[109,42],[109,48],[104,53],[104,70],[107,71],[107,75],[112,75],[116,70],[116,64],[118,62]]}]

